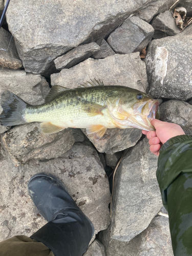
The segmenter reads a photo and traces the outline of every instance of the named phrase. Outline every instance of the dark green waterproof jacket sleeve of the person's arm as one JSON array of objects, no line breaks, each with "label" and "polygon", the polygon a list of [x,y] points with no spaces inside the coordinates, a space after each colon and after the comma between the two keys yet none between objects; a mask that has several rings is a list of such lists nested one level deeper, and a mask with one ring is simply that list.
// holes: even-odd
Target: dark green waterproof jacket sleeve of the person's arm
[{"label": "dark green waterproof jacket sleeve of the person's arm", "polygon": [[175,256],[192,255],[192,137],[181,135],[163,144],[157,180],[169,215]]}]

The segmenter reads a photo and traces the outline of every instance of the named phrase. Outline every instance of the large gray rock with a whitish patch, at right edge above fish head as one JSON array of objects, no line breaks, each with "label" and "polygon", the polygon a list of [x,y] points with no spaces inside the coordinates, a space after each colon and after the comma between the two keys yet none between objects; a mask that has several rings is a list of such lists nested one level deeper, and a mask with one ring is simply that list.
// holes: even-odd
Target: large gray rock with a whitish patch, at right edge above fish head
[{"label": "large gray rock with a whitish patch, at right edge above fish head", "polygon": [[153,40],[145,58],[152,97],[192,97],[192,26],[175,36]]}]

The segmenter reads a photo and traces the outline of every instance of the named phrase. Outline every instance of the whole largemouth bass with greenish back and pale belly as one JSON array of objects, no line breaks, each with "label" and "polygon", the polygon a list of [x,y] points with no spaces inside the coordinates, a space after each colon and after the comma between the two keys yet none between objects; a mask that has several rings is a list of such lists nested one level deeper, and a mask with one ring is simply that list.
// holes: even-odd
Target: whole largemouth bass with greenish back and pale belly
[{"label": "whole largemouth bass with greenish back and pale belly", "polygon": [[146,93],[124,86],[104,86],[94,78],[75,89],[53,86],[41,105],[28,104],[6,90],[1,95],[0,123],[12,126],[41,122],[44,134],[81,128],[98,141],[107,129],[155,131],[151,121],[159,113],[159,104]]}]

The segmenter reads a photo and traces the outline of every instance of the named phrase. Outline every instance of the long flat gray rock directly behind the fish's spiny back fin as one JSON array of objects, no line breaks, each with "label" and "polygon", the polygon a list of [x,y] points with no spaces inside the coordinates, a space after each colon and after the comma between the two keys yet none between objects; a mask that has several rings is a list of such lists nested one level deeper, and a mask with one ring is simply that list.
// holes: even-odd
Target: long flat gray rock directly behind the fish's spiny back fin
[{"label": "long flat gray rock directly behind the fish's spiny back fin", "polygon": [[115,54],[104,59],[89,58],[71,69],[52,74],[51,85],[73,89],[94,78],[99,78],[105,86],[118,84],[142,92],[148,86],[145,63],[139,53]]}]

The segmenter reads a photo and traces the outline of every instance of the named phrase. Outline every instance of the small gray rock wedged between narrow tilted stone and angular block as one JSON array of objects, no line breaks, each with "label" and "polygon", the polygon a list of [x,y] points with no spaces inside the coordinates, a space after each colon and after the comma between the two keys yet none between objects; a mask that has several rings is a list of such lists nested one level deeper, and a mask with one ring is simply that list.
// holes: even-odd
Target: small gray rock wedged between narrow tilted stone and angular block
[{"label": "small gray rock wedged between narrow tilted stone and angular block", "polygon": [[92,55],[94,59],[103,59],[115,54],[104,39],[100,38],[96,41],[96,43],[100,46],[100,50]]}]

